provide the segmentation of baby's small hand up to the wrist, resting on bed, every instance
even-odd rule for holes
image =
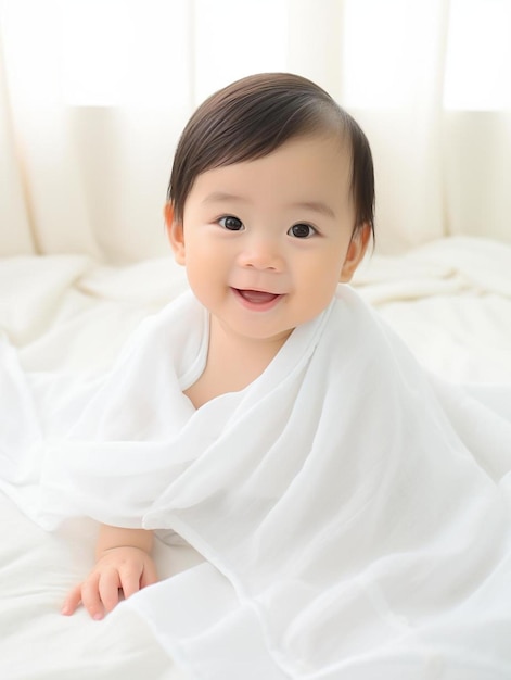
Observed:
[[[85,581],[67,595],[62,614],[74,614],[80,602],[90,616],[100,620],[119,602],[119,591],[129,597],[157,581],[154,562],[144,550],[118,546],[104,551]]]

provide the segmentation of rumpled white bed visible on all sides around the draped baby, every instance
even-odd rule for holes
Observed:
[[[511,247],[446,238],[369,257],[354,284],[431,369],[455,381],[511,383]],[[0,325],[27,372],[103,372],[131,329],[186,289],[169,257],[101,265],[81,255],[0,261]],[[23,427],[23,424],[18,424]],[[0,496],[0,677],[183,680],[146,624],[123,605],[95,622],[60,615],[89,569],[94,522],[46,533]],[[156,544],[162,577],[202,557]],[[171,603],[168,603],[171,607]]]

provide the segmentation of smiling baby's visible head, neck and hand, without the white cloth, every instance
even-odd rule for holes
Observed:
[[[360,127],[311,81],[260,74],[216,92],[179,141],[165,205],[176,261],[208,312],[195,410],[239,392],[331,304],[373,236],[374,178]],[[68,594],[101,619],[154,583],[152,531],[100,528],[95,566]]]

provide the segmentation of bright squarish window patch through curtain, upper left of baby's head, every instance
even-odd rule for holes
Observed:
[[[63,0],[59,21],[67,103],[154,108],[187,97],[187,0]]]

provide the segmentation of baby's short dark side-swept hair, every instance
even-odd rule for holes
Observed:
[[[182,221],[195,179],[208,169],[264,158],[284,142],[314,134],[338,135],[352,153],[354,232],[374,236],[374,174],[366,135],[356,121],[310,80],[286,73],[242,78],[199,106],[179,140],[167,200]]]

